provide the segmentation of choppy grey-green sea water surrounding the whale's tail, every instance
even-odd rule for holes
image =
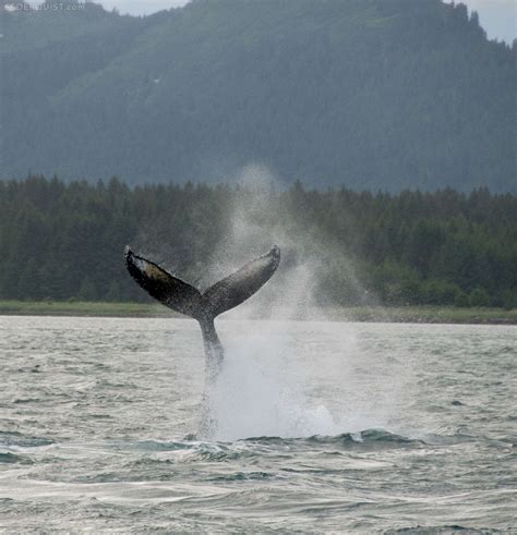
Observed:
[[[0,317],[2,533],[517,533],[515,327]]]

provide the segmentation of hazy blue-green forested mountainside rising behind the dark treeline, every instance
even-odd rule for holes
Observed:
[[[311,186],[516,189],[516,48],[488,41],[462,4],[0,16],[3,178],[231,181],[261,162]]]

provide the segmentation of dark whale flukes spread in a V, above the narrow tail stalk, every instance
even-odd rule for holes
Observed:
[[[133,279],[149,295],[180,314],[211,325],[216,316],[240,305],[258,291],[273,276],[280,263],[280,250],[249,262],[236,272],[219,280],[204,292],[163,267],[125,247],[125,265]]]

